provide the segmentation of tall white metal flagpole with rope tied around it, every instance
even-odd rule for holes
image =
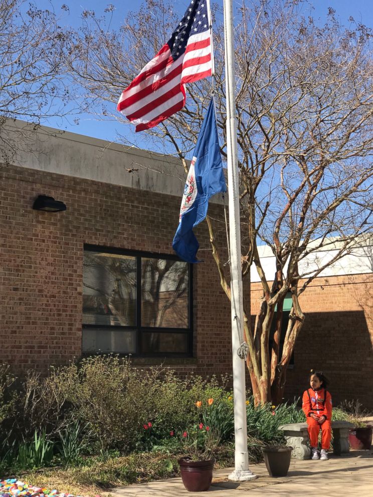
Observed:
[[[238,355],[243,337],[243,289],[241,275],[240,202],[237,160],[235,53],[232,0],[224,0],[225,75],[227,100],[227,160],[231,266],[231,314],[233,352],[233,395],[235,414],[235,470],[230,480],[245,481],[257,476],[249,469],[247,451],[245,359]]]

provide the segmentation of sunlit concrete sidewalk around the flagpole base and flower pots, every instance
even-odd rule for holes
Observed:
[[[291,461],[288,476],[271,478],[264,463],[252,464],[251,471],[258,478],[243,483],[228,481],[232,469],[214,471],[213,484],[203,495],[214,497],[240,497],[249,491],[254,497],[308,497],[320,494],[325,497],[372,497],[373,496],[373,451],[351,450],[345,456],[330,454],[328,461]],[[177,497],[192,495],[185,490],[181,478],[152,481],[117,487],[113,497]]]

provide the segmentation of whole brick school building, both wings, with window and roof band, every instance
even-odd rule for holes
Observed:
[[[101,351],[180,374],[230,373],[230,304],[206,223],[196,230],[203,264],[173,255],[184,181],[177,161],[51,128],[28,139],[27,152],[0,168],[0,361],[22,374]],[[38,195],[67,210],[33,209]],[[219,203],[209,209],[221,218]],[[225,246],[224,223],[218,228]],[[252,314],[262,295],[255,281]],[[373,407],[372,281],[371,262],[359,257],[306,291],[287,396],[322,367],[337,401]]]

